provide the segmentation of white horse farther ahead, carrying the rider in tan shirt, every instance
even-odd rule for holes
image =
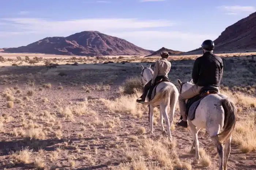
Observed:
[[[153,70],[150,67],[143,67],[141,65],[142,72],[140,73],[141,81],[143,85],[146,85],[148,81],[150,81],[153,78]],[[154,93],[152,93],[153,99],[149,102],[143,102],[142,104],[149,105],[149,120],[150,120],[150,132],[153,134],[153,110],[155,107],[159,109],[160,112],[160,121],[161,121],[161,127],[162,132],[165,132],[165,128],[163,127],[163,116],[165,117],[165,123],[167,126],[167,137],[169,139],[172,138],[170,126],[173,123],[173,116],[175,112],[176,103],[178,101],[178,89],[174,84],[171,82],[160,82],[156,87],[154,87],[153,92],[155,90],[155,96]],[[151,97],[151,98],[152,98]],[[148,101],[148,93],[146,96],[146,101]],[[167,114],[167,108],[170,106],[170,119]]]

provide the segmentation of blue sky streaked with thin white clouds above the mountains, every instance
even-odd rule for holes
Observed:
[[[0,48],[99,31],[145,49],[189,51],[255,12],[256,1],[4,0],[0,11]]]

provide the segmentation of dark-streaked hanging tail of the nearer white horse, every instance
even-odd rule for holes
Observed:
[[[220,142],[224,143],[226,142],[227,139],[230,138],[235,128],[237,108],[232,101],[226,98],[221,99],[221,104],[224,109],[225,118],[224,118],[223,131],[220,134],[217,134],[217,136],[219,136]]]

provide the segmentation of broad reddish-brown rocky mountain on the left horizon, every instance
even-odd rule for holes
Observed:
[[[5,49],[4,52],[101,56],[149,55],[154,51],[143,49],[127,40],[98,31],[83,31],[67,37],[46,37],[27,46]]]

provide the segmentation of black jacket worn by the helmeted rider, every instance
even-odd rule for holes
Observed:
[[[223,74],[223,62],[220,57],[207,51],[195,60],[192,78],[198,86],[219,86]]]

